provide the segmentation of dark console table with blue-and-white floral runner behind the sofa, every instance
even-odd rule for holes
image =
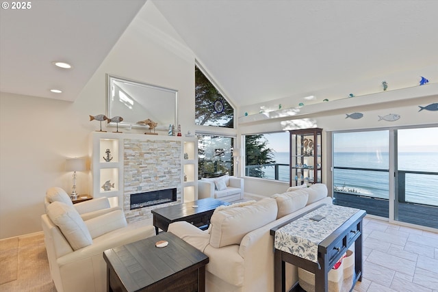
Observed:
[[[322,223],[309,219],[309,217],[313,217],[314,215],[318,215],[320,213],[322,213],[322,215],[326,215],[326,217],[320,221]],[[352,215],[345,215],[345,213]],[[274,242],[276,240],[276,232],[279,233],[278,239],[281,240],[284,238],[287,239],[287,232],[290,230],[291,236],[294,238],[293,241],[295,241],[293,244],[299,245],[299,242],[303,241],[307,243],[307,246],[313,245],[315,251],[313,258],[306,258],[307,254],[311,254],[309,250],[307,250],[305,256],[304,254],[299,254],[298,252],[298,250],[302,250],[302,248],[288,248],[287,246],[284,246],[287,244],[283,243],[280,243],[280,245],[283,245],[281,247],[276,245],[274,254],[274,292],[285,292],[285,263],[291,263],[296,267],[300,267],[315,274],[315,292],[327,292],[329,284],[327,274],[333,265],[339,261],[339,258],[344,255],[352,243],[355,243],[355,275],[353,277],[354,287],[358,280],[362,280],[362,220],[365,215],[366,212],[363,210],[323,204],[315,207],[315,209],[312,209],[307,213],[292,218],[292,220],[289,220],[280,226],[272,228],[270,230],[270,234],[274,236]],[[323,222],[324,220],[327,221]],[[330,225],[328,223],[331,220],[333,220],[333,222],[337,221],[341,223],[336,225],[339,227],[335,227],[335,230],[330,231],[329,235],[322,239],[322,241],[319,243],[313,244],[310,240],[307,241],[305,238],[306,235],[298,235],[300,232],[297,228],[300,228],[300,224],[304,226],[303,228],[307,228],[307,230],[310,228],[313,234],[318,234],[320,231],[324,233],[326,230],[330,230],[326,227],[327,225]],[[294,222],[294,224],[288,225],[291,222]],[[321,230],[319,231],[318,228],[321,228]],[[322,230],[323,228],[324,230]],[[297,241],[298,243],[296,243]],[[277,247],[281,249],[278,249]],[[300,290],[301,288],[299,287],[298,282],[292,288],[293,289],[291,291],[302,291]]]

